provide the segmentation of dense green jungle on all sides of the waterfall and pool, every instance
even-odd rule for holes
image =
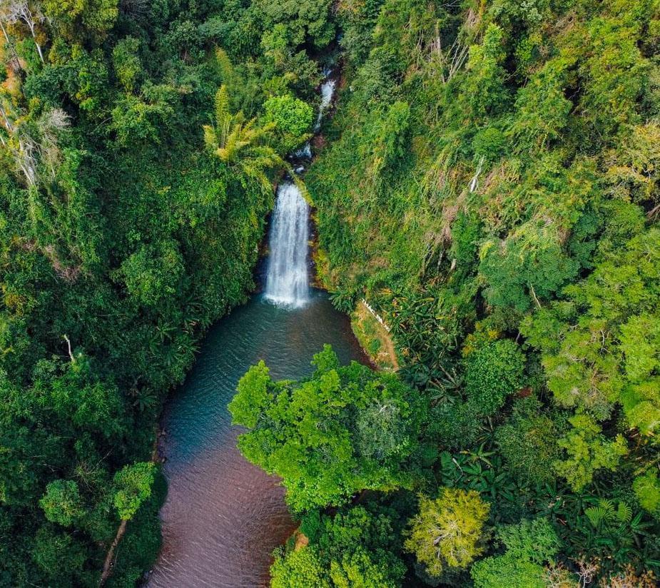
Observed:
[[[230,404],[305,544],[276,588],[660,575],[660,1],[0,0],[0,586],[134,586],[164,402],[273,184],[400,370]],[[373,332],[372,332],[373,333]],[[368,337],[367,333],[367,337]],[[372,342],[372,351],[379,342]]]

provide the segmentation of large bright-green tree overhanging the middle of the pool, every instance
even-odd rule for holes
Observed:
[[[240,451],[283,478],[295,511],[339,505],[363,489],[407,484],[402,466],[417,445],[412,391],[397,377],[352,363],[339,367],[329,345],[302,382],[273,382],[250,367],[229,404],[250,430]]]

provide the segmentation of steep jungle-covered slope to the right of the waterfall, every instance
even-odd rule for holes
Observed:
[[[583,577],[655,569],[658,6],[337,19],[345,81],[307,177],[335,304],[390,325],[442,484],[491,492],[502,521],[549,514]]]

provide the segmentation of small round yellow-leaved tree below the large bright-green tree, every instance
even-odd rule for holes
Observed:
[[[439,497],[420,498],[420,512],[410,520],[405,549],[440,576],[445,569],[467,567],[484,551],[484,524],[490,505],[474,490],[443,488]]]

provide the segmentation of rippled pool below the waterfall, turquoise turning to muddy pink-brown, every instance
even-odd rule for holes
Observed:
[[[263,359],[276,379],[303,377],[323,343],[343,363],[364,361],[348,318],[319,290],[294,310],[255,296],[210,330],[163,420],[169,487],[150,587],[268,585],[270,553],[295,525],[278,480],[238,453],[227,403],[250,365]]]

